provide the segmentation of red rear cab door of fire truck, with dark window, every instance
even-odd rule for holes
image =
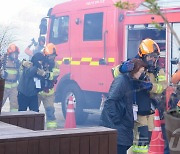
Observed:
[[[82,10],[80,84],[83,90],[102,92],[106,87],[106,63],[103,59],[106,13],[106,7]]]

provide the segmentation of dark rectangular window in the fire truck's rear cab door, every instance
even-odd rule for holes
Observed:
[[[102,40],[103,12],[85,14],[83,41]]]

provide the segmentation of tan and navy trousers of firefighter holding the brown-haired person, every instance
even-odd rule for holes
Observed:
[[[135,136],[133,144],[134,153],[148,153],[152,130],[154,129],[154,114],[148,116],[138,115],[135,124]]]

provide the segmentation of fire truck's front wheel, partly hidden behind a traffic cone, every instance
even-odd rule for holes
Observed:
[[[83,124],[88,118],[88,114],[83,112],[83,109],[86,106],[86,102],[81,89],[75,84],[68,85],[63,92],[63,98],[62,98],[63,115],[64,117],[66,117],[68,99],[70,96],[73,97],[76,123],[78,125]]]

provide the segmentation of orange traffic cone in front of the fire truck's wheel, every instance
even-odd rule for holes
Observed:
[[[76,128],[73,97],[69,97],[64,128]]]

